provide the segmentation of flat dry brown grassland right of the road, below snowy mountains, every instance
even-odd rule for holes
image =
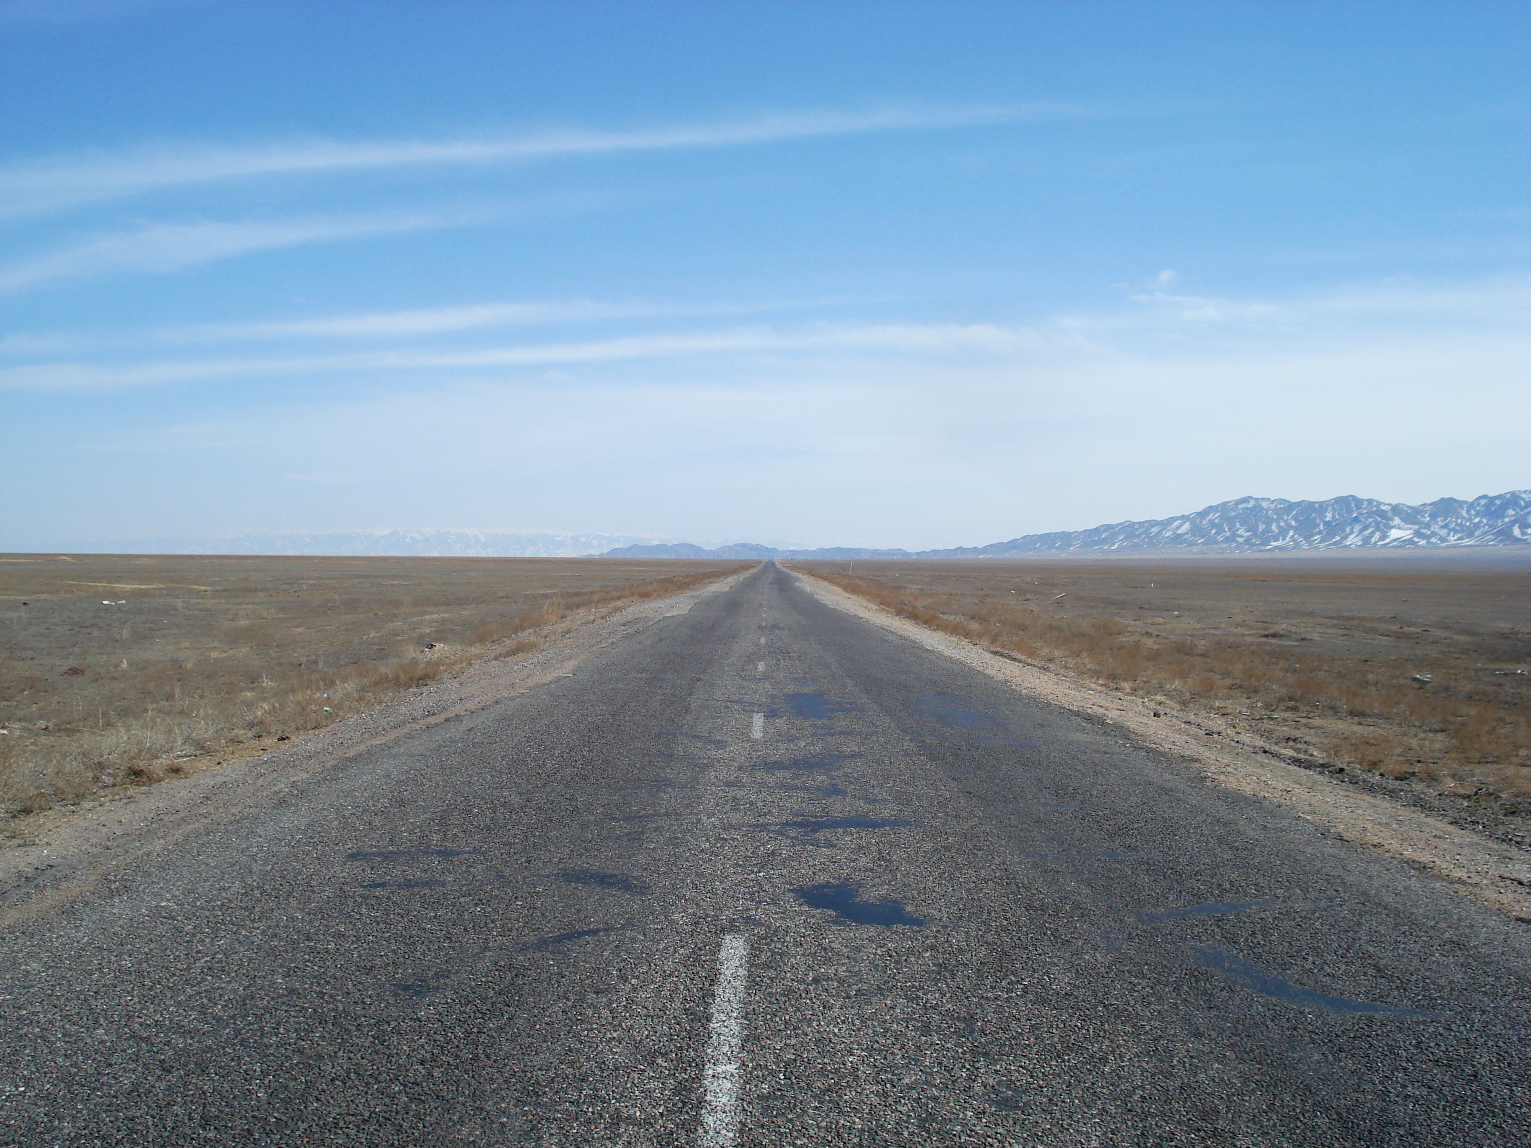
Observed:
[[[1298,756],[1523,801],[1531,559],[1471,557],[793,565],[925,626],[1216,712]]]

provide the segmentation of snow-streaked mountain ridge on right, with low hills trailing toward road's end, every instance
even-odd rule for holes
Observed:
[[[952,550],[773,550],[750,543],[704,550],[690,543],[635,545],[608,557],[694,559],[984,559],[1030,554],[1105,554],[1121,551],[1295,551],[1363,546],[1531,545],[1531,490],[1482,494],[1471,501],[1436,499],[1422,505],[1378,502],[1346,494],[1324,502],[1246,496],[1150,522],[1110,522],[1092,530],[1023,534],[987,546]],[[681,553],[684,551],[684,553]]]

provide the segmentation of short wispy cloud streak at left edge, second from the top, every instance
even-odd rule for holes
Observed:
[[[168,272],[230,256],[300,243],[461,227],[481,216],[375,214],[228,223],[149,223],[132,231],[95,236],[75,246],[0,266],[0,291],[26,291],[41,283],[86,279],[119,271]]]

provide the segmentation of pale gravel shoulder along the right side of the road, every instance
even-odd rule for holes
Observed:
[[[1150,704],[1035,661],[995,654],[900,618],[819,579],[798,572],[795,577],[828,606],[957,658],[1023,693],[1116,726],[1191,762],[1209,782],[1278,802],[1335,837],[1396,857],[1448,880],[1482,905],[1531,921],[1531,851],[1525,848],[1410,808],[1381,785],[1369,791],[1360,778],[1340,779],[1292,765],[1280,748],[1216,718]],[[1156,710],[1162,716],[1154,716]]]

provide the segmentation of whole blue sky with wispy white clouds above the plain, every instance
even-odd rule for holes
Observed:
[[[0,548],[1531,485],[1522,3],[0,0]]]

